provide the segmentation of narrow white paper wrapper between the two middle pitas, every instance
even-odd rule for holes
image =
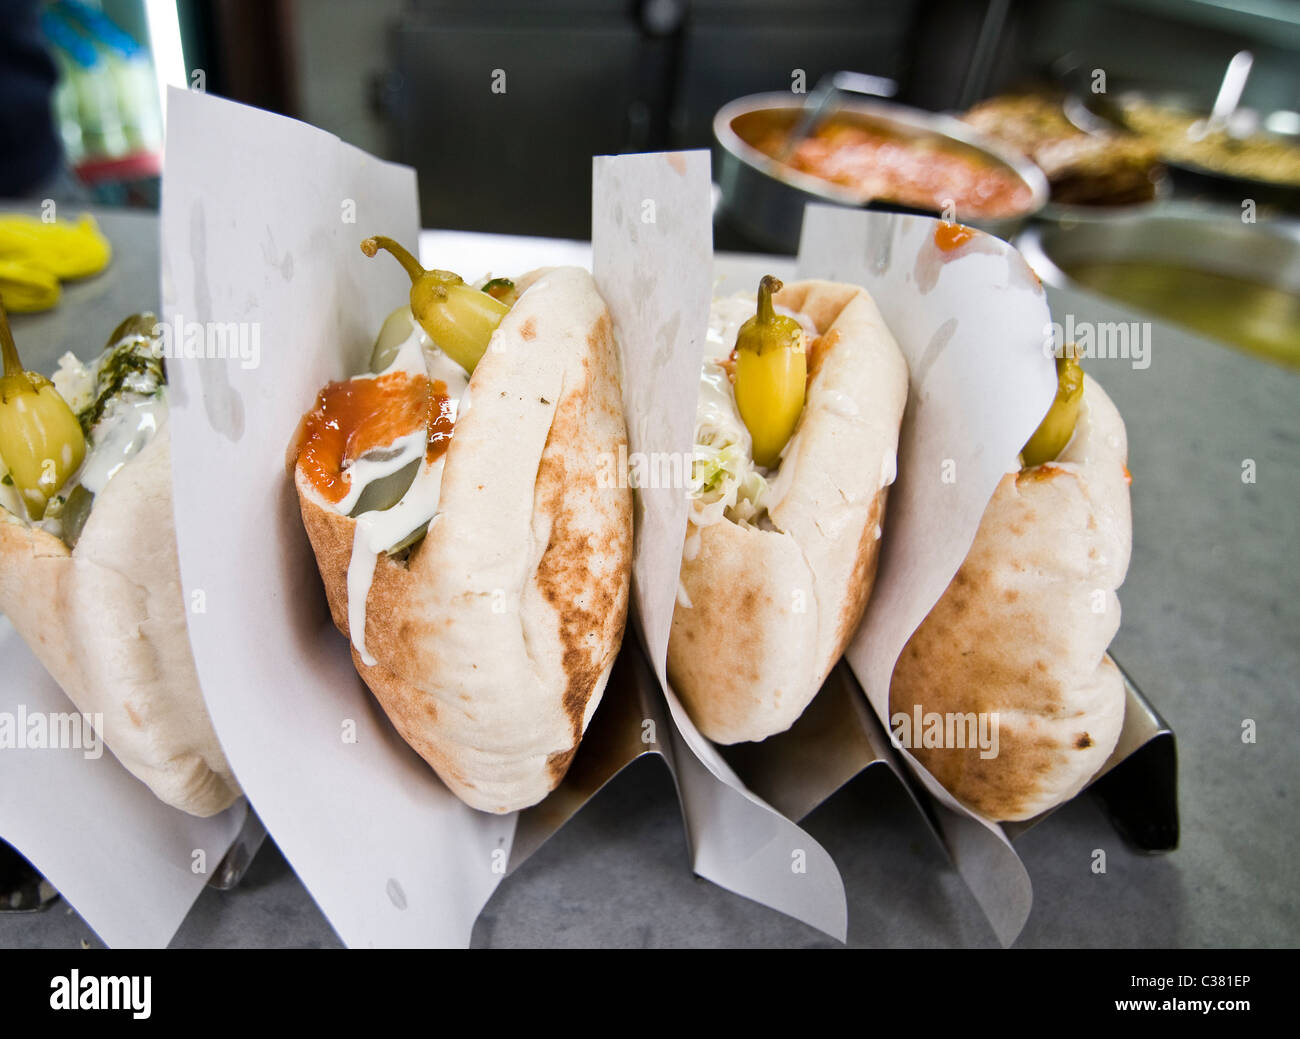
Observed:
[[[630,456],[689,459],[712,296],[707,152],[602,156],[593,166],[597,285],[623,356]],[[844,940],[844,882],[827,852],[749,792],[692,724],[667,680],[686,532],[682,486],[637,492],[636,625],[662,683],[696,873]]]

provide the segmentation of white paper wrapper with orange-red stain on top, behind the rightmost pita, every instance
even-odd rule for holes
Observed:
[[[928,217],[810,205],[800,246],[801,277],[871,293],[911,371],[880,568],[846,653],[885,728],[898,655],[961,567],[993,489],[1056,393],[1043,350],[1046,299],[1028,265],[983,234],[940,250],[937,226]],[[1009,944],[1032,900],[1010,841],[900,753],[941,806],[953,860]]]

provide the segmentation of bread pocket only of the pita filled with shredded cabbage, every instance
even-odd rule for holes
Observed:
[[[784,732],[816,696],[871,594],[907,364],[864,289],[788,285],[812,320],[803,414],[771,488],[775,531],[699,528],[673,610],[668,676],[710,740]],[[690,534],[696,537],[696,534]]]

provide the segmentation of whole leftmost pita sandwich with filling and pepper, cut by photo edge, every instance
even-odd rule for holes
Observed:
[[[213,815],[240,791],[186,632],[156,319],[88,365],[64,355],[53,381],[0,335],[0,611],[133,775]]]

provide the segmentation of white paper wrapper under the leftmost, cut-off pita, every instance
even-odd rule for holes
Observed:
[[[3,616],[0,658],[5,722],[77,711]],[[239,832],[248,802],[209,819],[186,815],[100,750],[0,748],[0,835],[105,944],[162,947]]]

